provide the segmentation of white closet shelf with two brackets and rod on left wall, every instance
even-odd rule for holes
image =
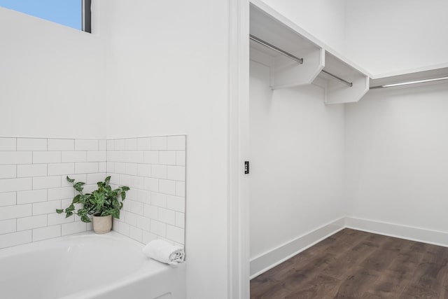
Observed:
[[[271,69],[271,88],[314,83],[325,88],[325,104],[358,102],[369,76],[352,62],[262,1],[251,0],[251,60]]]

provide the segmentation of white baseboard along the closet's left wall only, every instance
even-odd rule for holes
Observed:
[[[339,230],[345,228],[344,218],[340,218],[331,223],[325,224],[316,230],[305,235],[297,237],[286,244],[276,247],[267,253],[251,259],[251,279],[266,272],[267,270],[283,263],[288,258],[295,256],[297,253],[308,249],[314,244],[321,242],[323,239],[334,235]]]

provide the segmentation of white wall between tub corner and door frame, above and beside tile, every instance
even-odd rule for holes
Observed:
[[[187,135],[188,298],[228,292],[228,2],[103,2],[108,137]]]

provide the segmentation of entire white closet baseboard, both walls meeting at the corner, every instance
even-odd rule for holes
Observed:
[[[323,239],[334,235],[336,232],[339,232],[339,230],[344,228],[352,228],[353,230],[362,230],[379,235],[398,237],[400,239],[409,239],[416,242],[448,247],[448,232],[426,230],[407,225],[385,223],[354,217],[343,217],[331,223],[325,224],[305,235],[297,237],[297,239],[293,239],[293,241],[278,246],[267,253],[263,253],[260,256],[252,258],[250,272],[251,279],[275,267],[276,265],[283,263],[285,260],[295,256],[297,253],[308,249],[314,244],[321,242]]]

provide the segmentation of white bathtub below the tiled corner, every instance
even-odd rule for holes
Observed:
[[[146,258],[143,244],[116,232],[0,250],[0,298],[185,298],[185,264]]]

